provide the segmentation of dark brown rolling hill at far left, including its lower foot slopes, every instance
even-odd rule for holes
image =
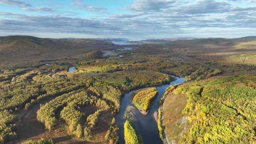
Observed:
[[[0,67],[24,67],[40,61],[61,61],[93,50],[117,46],[101,40],[47,39],[33,36],[0,37]]]

